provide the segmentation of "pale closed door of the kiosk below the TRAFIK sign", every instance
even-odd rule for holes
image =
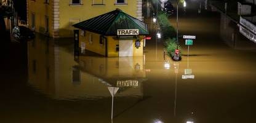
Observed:
[[[132,40],[119,40],[119,57],[132,57]]]

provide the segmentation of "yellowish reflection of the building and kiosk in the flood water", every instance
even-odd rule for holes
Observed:
[[[28,82],[39,92],[72,100],[111,97],[108,87],[119,87],[115,97],[143,96],[143,57],[81,56],[74,61],[73,47],[63,44],[42,37],[28,42]]]

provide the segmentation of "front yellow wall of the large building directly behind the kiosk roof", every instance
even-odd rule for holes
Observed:
[[[127,5],[114,5],[114,2],[115,0],[105,0],[105,5],[92,6],[92,0],[82,0],[82,5],[71,6],[70,0],[62,0],[60,2],[60,37],[72,37],[74,23],[97,17],[116,8],[137,17],[137,1],[127,0]]]

